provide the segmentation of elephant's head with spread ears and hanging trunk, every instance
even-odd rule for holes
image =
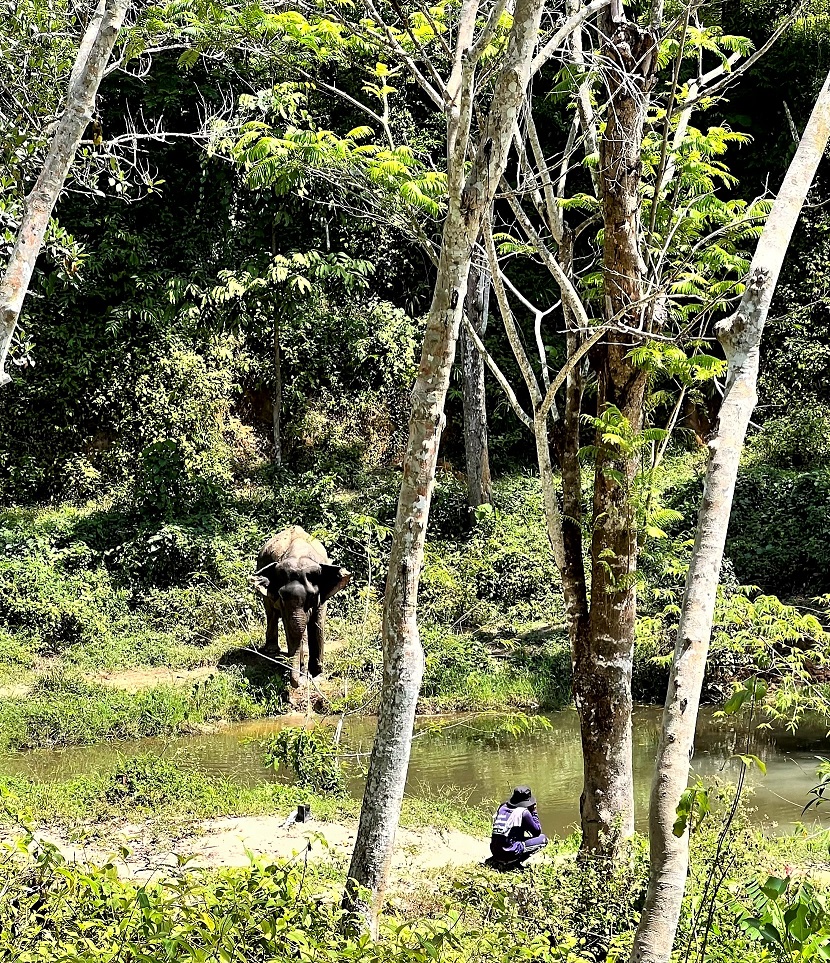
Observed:
[[[310,614],[345,588],[351,573],[310,558],[282,559],[253,576],[257,591],[279,601],[291,666],[291,685],[300,684],[300,659]]]

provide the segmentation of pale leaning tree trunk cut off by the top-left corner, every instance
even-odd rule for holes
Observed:
[[[43,169],[23,206],[23,219],[0,281],[0,387],[11,381],[6,359],[43,238],[58,196],[92,120],[98,88],[124,20],[128,0],[100,0],[81,40],[66,107],[52,137]]]

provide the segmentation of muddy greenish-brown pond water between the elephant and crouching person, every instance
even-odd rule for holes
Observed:
[[[659,735],[661,710],[642,707],[634,715],[634,776],[637,828],[645,831],[648,794]],[[578,821],[582,784],[582,759],[576,713],[547,714],[549,729],[518,738],[492,733],[493,716],[421,717],[416,726],[407,792],[413,796],[446,796],[468,800],[470,805],[495,804],[511,787],[526,783],[539,800],[539,815],[546,832],[565,834]],[[34,750],[0,756],[0,774],[26,775],[55,781],[110,769],[124,757],[157,753],[206,773],[251,786],[278,777],[263,765],[256,740],[296,719],[269,719],[230,726],[206,735],[176,739],[142,739],[71,749]],[[375,721],[347,719],[343,741],[350,751],[371,749]],[[440,731],[435,731],[440,727]],[[726,782],[737,778],[736,753],[752,753],[764,761],[766,775],[753,770],[748,803],[757,825],[786,832],[797,823],[830,827],[830,802],[825,810],[801,815],[816,784],[820,757],[830,758],[830,738],[819,726],[786,731],[734,728],[703,710],[698,723],[692,778]],[[360,795],[359,779],[351,791]]]

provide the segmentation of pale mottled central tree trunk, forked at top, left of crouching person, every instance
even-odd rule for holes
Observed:
[[[469,5],[472,25],[476,6]],[[470,39],[458,51],[461,82],[448,122],[449,210],[421,364],[412,391],[409,443],[404,456],[383,609],[383,684],[378,728],[343,898],[345,908],[362,917],[373,933],[377,932],[400,819],[415,708],[423,678],[424,653],[417,623],[418,586],[444,425],[444,402],[464,310],[472,250],[507,163],[513,128],[526,96],[544,6],[545,0],[516,2],[507,50],[481,132],[481,146],[466,178],[463,172],[469,146],[475,70],[469,51],[472,27]]]

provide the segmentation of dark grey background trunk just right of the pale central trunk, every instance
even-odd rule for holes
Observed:
[[[490,301],[490,278],[486,268],[473,267],[464,310],[475,333],[484,337]],[[461,368],[464,395],[464,452],[467,461],[467,498],[470,508],[491,501],[490,451],[487,443],[487,399],[484,389],[484,358],[461,326]]]

